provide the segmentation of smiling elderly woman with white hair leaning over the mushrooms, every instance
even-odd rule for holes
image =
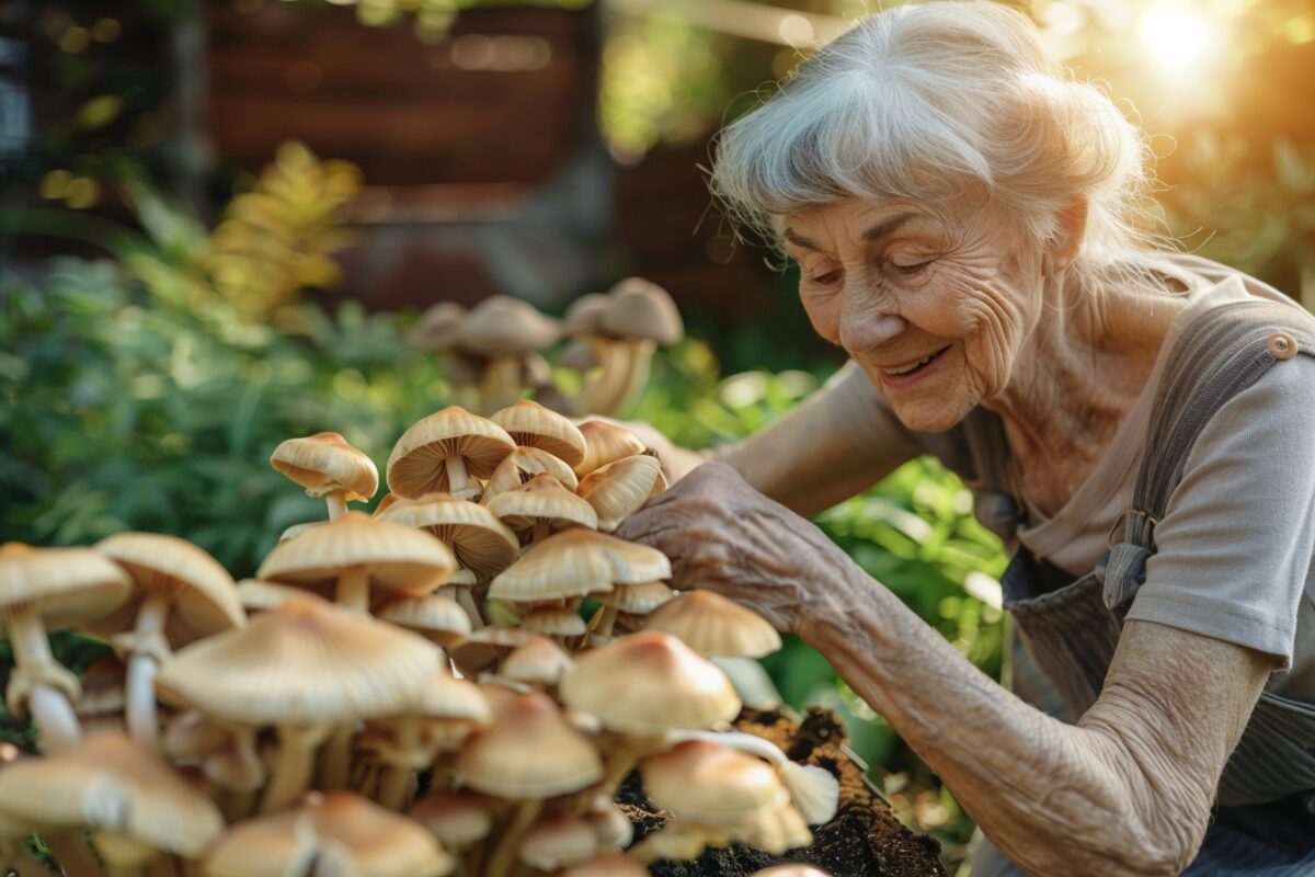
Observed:
[[[1143,143],[1001,5],[813,55],[713,189],[852,362],[622,535],[817,647],[1003,873],[1315,874],[1315,320],[1155,249]],[[1072,722],[800,517],[923,452],[1016,547],[1006,607]]]

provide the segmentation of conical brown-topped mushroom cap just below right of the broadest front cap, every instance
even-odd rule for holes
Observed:
[[[476,732],[456,756],[458,785],[512,801],[569,794],[602,778],[589,738],[546,694],[515,694],[485,685],[493,724]]]

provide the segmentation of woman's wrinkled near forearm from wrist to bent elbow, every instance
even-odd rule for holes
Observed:
[[[977,671],[890,592],[856,568],[801,626],[860,697],[942,777],[982,831],[1035,874],[1168,874],[1203,824],[1147,814],[1199,811],[1168,778],[1145,781],[1126,740],[1066,726]],[[1172,774],[1172,769],[1170,769]],[[1159,798],[1157,798],[1159,797]],[[1208,798],[1205,802],[1208,807]]]

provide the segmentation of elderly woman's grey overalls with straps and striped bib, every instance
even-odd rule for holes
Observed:
[[[1156,396],[1134,508],[1120,515],[1110,551],[1077,581],[1026,547],[1005,571],[1005,609],[1031,659],[1022,661],[1015,690],[1045,689],[1026,669],[1039,667],[1052,686],[1048,696],[1060,702],[1053,714],[1072,721],[1095,702],[1123,618],[1145,581],[1145,561],[1156,550],[1155,523],[1164,517],[1198,435],[1223,402],[1298,352],[1315,355],[1315,321],[1278,302],[1220,305],[1186,327]],[[978,409],[964,427],[981,485],[978,517],[1009,540],[1020,505],[1003,489],[1010,477],[999,419]],[[1034,702],[1044,706],[1045,697],[1036,692]],[[984,847],[972,877],[1022,873],[994,847]],[[1201,852],[1184,873],[1315,877],[1315,706],[1261,694],[1224,769]]]

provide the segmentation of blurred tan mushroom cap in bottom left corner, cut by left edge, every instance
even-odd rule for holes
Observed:
[[[209,798],[121,734],[97,734],[5,767],[0,813],[54,832],[110,831],[188,859],[224,834],[224,817]]]

